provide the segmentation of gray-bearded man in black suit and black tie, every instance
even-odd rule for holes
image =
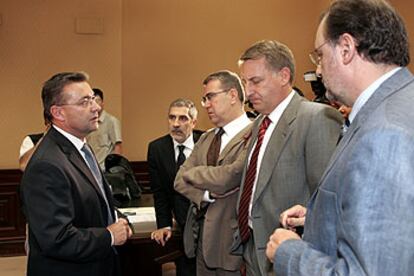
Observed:
[[[168,111],[169,134],[152,141],[148,146],[148,166],[151,190],[154,195],[157,230],[151,238],[162,246],[171,238],[173,217],[181,230],[189,201],[174,190],[175,175],[190,155],[201,132],[194,131],[197,109],[193,102],[177,99]],[[176,262],[177,275],[195,275],[195,259],[180,257]]]

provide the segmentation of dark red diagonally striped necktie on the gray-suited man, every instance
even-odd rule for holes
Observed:
[[[262,124],[259,128],[259,133],[257,135],[257,143],[253,150],[252,156],[250,158],[250,163],[247,168],[243,191],[240,197],[239,203],[239,230],[240,237],[243,243],[245,243],[250,237],[249,231],[249,205],[252,198],[253,184],[256,178],[257,171],[257,157],[259,156],[260,147],[263,143],[263,137],[266,133],[267,128],[269,127],[271,120],[269,117],[263,119]]]

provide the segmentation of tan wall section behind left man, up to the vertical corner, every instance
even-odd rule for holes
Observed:
[[[42,132],[42,83],[82,70],[121,113],[121,0],[0,1],[0,168],[17,168],[28,133]],[[104,18],[103,35],[75,34],[75,18]]]

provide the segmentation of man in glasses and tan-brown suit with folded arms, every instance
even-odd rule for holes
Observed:
[[[197,205],[197,216],[205,213],[198,235],[197,275],[240,275],[242,258],[231,255],[230,248],[237,227],[241,178],[237,164],[245,156],[251,122],[244,112],[244,91],[235,73],[212,73],[203,85],[201,102],[216,128],[200,137],[178,171],[174,188]],[[192,239],[192,230],[190,235],[187,231],[186,227],[184,239]]]

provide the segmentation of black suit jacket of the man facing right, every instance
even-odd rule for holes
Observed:
[[[113,210],[106,182],[104,188]],[[75,146],[53,127],[30,159],[21,196],[29,224],[27,275],[119,275],[99,186]]]

